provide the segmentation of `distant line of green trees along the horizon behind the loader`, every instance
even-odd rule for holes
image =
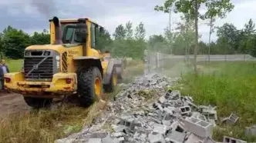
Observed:
[[[194,22],[185,22],[184,18],[177,23],[175,32],[164,29],[163,35],[151,35],[145,38],[146,29],[143,23],[133,29],[132,22],[118,25],[113,38],[109,32],[99,38],[98,49],[109,51],[117,57],[143,58],[143,51],[163,52],[173,55],[194,53]],[[256,56],[256,32],[254,22],[250,19],[244,28],[237,29],[231,23],[225,23],[215,28],[217,41],[211,42],[211,54],[250,54]],[[187,39],[187,40],[185,40]],[[8,26],[0,33],[0,54],[7,58],[23,58],[23,51],[29,45],[43,45],[50,43],[49,32],[34,32],[32,35]],[[208,54],[209,44],[199,43],[198,54]]]

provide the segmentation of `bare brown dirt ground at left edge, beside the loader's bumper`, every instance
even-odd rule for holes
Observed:
[[[0,92],[0,117],[27,110],[22,95]]]

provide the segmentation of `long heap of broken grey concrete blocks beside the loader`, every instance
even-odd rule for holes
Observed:
[[[144,75],[127,85],[108,104],[93,125],[59,142],[165,143],[214,142],[211,138],[217,113],[211,106],[197,106],[180,91],[165,91],[177,78]],[[153,95],[151,91],[153,92]],[[72,140],[70,140],[72,138]],[[69,140],[69,141],[68,141]]]

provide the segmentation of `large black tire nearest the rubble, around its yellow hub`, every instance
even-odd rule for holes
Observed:
[[[99,99],[95,94],[94,83],[96,78],[99,78],[102,83],[102,75],[99,68],[83,68],[79,71],[77,94],[79,96],[80,104],[84,107],[92,105],[94,101]],[[100,85],[102,89],[102,84]],[[101,90],[102,91],[102,90]]]

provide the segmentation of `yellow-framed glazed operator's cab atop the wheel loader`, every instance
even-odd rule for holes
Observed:
[[[51,44],[86,44],[87,47],[97,48],[99,36],[104,28],[89,18],[59,19],[52,18],[50,22]]]

